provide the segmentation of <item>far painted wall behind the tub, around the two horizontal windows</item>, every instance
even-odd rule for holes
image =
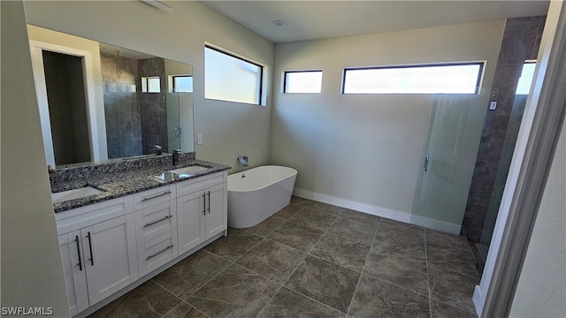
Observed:
[[[298,193],[409,221],[434,98],[340,95],[342,69],[486,60],[482,87],[488,93],[504,24],[494,20],[277,44],[271,162],[299,171]],[[305,69],[323,70],[322,94],[282,94],[281,73]],[[483,120],[472,148],[478,147],[481,125]]]

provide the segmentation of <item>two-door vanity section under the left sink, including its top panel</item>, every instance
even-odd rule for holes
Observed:
[[[138,278],[132,198],[57,213],[71,314]]]

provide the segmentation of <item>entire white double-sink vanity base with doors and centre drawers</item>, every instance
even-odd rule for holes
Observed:
[[[226,231],[227,180],[225,170],[58,212],[71,314],[117,297]]]

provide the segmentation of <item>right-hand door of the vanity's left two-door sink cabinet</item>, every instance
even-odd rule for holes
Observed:
[[[134,214],[80,230],[90,306],[138,278]]]

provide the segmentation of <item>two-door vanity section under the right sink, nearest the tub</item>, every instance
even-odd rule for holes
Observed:
[[[226,185],[226,171],[177,184],[179,254],[226,231]]]

